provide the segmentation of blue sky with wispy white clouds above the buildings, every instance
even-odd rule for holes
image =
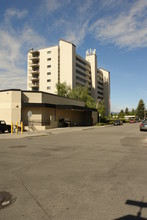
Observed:
[[[26,89],[27,52],[96,49],[111,74],[111,111],[147,107],[147,0],[0,0],[0,90]]]

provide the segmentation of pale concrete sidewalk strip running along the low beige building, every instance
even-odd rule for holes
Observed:
[[[16,133],[11,134],[5,132],[4,134],[0,134],[0,139],[17,139],[17,138],[34,137],[34,136],[48,136],[52,134],[55,135],[55,134],[73,132],[73,131],[96,129],[98,127],[99,126],[52,128],[47,130],[24,131],[23,134],[21,134],[20,132],[18,134]]]

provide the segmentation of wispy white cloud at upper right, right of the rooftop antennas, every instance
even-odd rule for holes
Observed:
[[[98,18],[90,27],[97,40],[130,49],[147,46],[147,1],[139,0],[117,15]]]

